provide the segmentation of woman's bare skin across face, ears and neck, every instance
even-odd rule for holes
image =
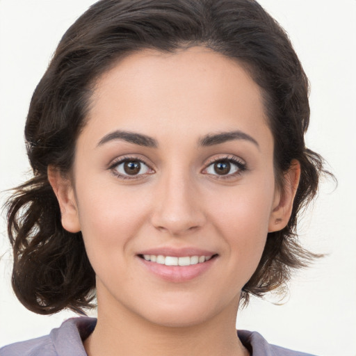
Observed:
[[[157,147],[100,144],[116,130],[149,136]],[[230,131],[245,136],[200,145]],[[124,157],[145,163],[139,174],[118,177],[123,164],[114,164]],[[219,175],[213,162],[226,159],[245,170],[230,163],[236,172]],[[261,92],[235,61],[204,47],[145,50],[104,74],[76,143],[72,179],[49,168],[63,227],[81,230],[97,275],[88,355],[249,355],[236,337],[241,289],[268,232],[288,222],[299,174],[294,162],[283,193],[275,188]],[[170,281],[138,257],[162,247],[216,257],[192,280]]]

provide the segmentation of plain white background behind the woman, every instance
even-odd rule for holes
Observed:
[[[0,0],[0,191],[29,178],[23,129],[31,94],[64,31],[92,0]],[[356,1],[261,0],[289,33],[312,84],[307,145],[339,180],[323,181],[300,224],[300,240],[328,254],[302,270],[284,305],[252,300],[238,328],[323,356],[356,355]],[[1,193],[1,203],[5,193]],[[11,253],[0,221],[0,346],[47,334],[71,316],[38,316],[10,289]]]

